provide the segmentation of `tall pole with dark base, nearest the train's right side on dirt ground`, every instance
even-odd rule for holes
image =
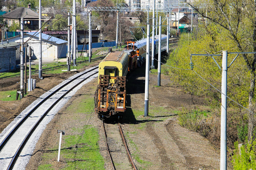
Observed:
[[[150,24],[147,24],[147,47],[146,47],[146,73],[145,73],[145,101],[144,116],[148,116],[148,86],[149,86],[149,67],[150,67]]]

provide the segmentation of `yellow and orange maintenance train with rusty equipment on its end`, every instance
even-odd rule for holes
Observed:
[[[158,54],[155,36],[155,54]],[[162,35],[162,49],[166,50],[167,36]],[[99,118],[121,118],[126,109],[126,75],[141,66],[146,58],[146,40],[131,42],[123,51],[110,52],[98,66],[98,86],[94,95],[95,113]]]

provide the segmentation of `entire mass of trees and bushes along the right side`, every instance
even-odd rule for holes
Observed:
[[[205,6],[204,4],[208,4]],[[185,90],[204,96],[209,104],[208,116],[197,121],[196,131],[216,145],[220,142],[222,56],[191,54],[222,54],[256,51],[256,16],[254,1],[197,1],[191,3],[200,15],[193,33],[181,35],[178,48],[170,54],[169,73]],[[228,54],[228,66],[237,54]],[[217,63],[216,63],[216,62]],[[193,63],[193,69],[189,63]],[[228,68],[228,147],[234,169],[254,169],[255,160],[255,54],[239,54]],[[232,99],[232,100],[231,100]],[[241,105],[244,107],[241,107]],[[246,109],[245,109],[246,108]],[[188,115],[191,111],[188,111]],[[196,115],[198,113],[196,112]],[[205,114],[205,113],[204,113]],[[195,115],[195,114],[194,114]],[[187,117],[191,118],[191,117]],[[197,117],[198,118],[198,117]],[[195,116],[191,119],[195,120]],[[181,124],[187,120],[181,117]],[[199,123],[198,123],[199,122]],[[236,143],[236,144],[235,144]],[[237,143],[243,143],[238,149]]]

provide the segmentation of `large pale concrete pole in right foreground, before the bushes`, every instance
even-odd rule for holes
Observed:
[[[226,170],[226,83],[228,71],[228,51],[222,51],[222,80],[221,80],[221,147],[220,169]]]

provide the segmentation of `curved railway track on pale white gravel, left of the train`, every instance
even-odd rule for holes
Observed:
[[[0,169],[25,169],[48,122],[83,84],[96,78],[97,74],[98,66],[72,76],[17,116],[0,134]]]

